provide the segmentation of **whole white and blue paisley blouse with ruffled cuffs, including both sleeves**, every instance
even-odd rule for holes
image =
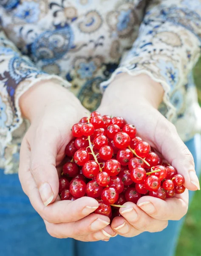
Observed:
[[[0,167],[17,172],[29,125],[19,98],[45,79],[92,111],[116,74],[146,73],[164,88],[159,111],[189,140],[201,130],[200,51],[200,0],[0,0]]]

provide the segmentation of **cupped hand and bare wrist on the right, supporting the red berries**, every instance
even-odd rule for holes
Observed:
[[[200,188],[193,156],[181,141],[175,126],[157,110],[163,89],[146,75],[136,77],[120,74],[106,89],[98,111],[104,115],[122,116],[136,125],[140,137],[156,148],[185,178],[190,190]],[[144,196],[137,205],[127,202],[119,209],[122,217],[113,219],[111,227],[119,235],[132,237],[144,231],[158,232],[168,220],[179,220],[188,209],[188,190],[175,198]]]

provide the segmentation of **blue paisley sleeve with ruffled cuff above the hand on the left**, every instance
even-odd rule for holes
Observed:
[[[38,81],[49,79],[54,79],[65,87],[70,86],[59,76],[41,72],[6,38],[0,27],[0,155],[2,157],[6,154],[5,149],[11,147],[13,133],[17,134],[21,126],[25,126],[18,104],[20,96]]]

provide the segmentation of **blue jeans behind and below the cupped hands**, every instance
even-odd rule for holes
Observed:
[[[201,169],[201,136],[186,143],[195,169]],[[190,193],[192,198],[193,193]],[[17,175],[0,170],[0,256],[173,256],[182,221],[170,221],[159,233],[142,233],[133,238],[116,236],[108,242],[80,242],[52,238],[40,216],[23,193]]]

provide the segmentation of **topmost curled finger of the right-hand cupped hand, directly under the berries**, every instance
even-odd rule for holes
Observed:
[[[151,196],[144,196],[137,202],[144,212],[158,220],[180,220],[188,210],[188,191],[174,198],[161,200]]]

